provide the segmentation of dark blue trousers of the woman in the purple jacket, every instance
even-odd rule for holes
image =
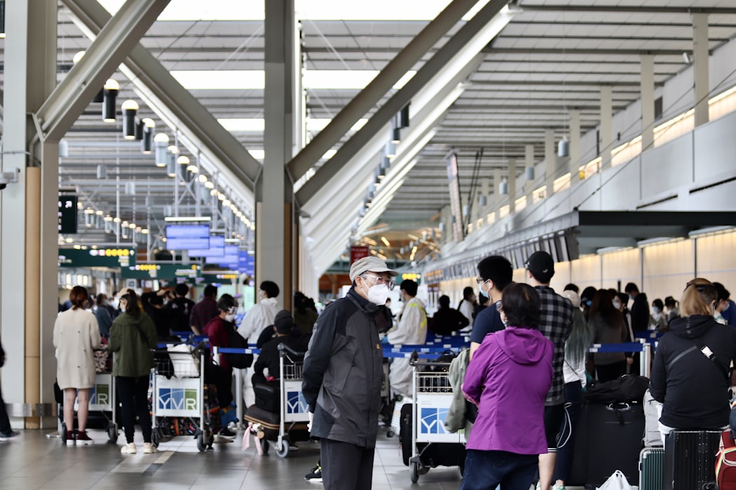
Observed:
[[[469,449],[460,490],[529,490],[538,464],[536,454]]]

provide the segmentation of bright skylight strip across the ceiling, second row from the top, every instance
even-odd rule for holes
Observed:
[[[394,84],[400,89],[416,71],[408,71]],[[378,70],[308,70],[302,84],[309,90],[361,90],[370,83]],[[187,90],[263,90],[266,75],[263,70],[174,70],[177,81]]]

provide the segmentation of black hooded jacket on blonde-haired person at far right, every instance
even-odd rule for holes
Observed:
[[[721,325],[710,315],[678,318],[659,339],[649,390],[654,400],[664,403],[662,424],[718,429],[729,423],[731,380],[691,339],[700,339],[723,367],[736,359],[736,328]]]

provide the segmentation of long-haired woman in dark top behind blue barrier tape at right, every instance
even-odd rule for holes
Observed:
[[[613,295],[608,289],[598,289],[593,295],[588,325],[596,344],[620,344],[626,341],[623,314],[613,306]],[[611,381],[626,374],[626,353],[597,352],[593,354],[593,364],[598,381]]]

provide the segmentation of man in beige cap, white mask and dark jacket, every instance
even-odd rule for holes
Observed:
[[[378,257],[350,266],[353,287],[319,315],[304,358],[302,393],[311,435],[321,439],[325,489],[372,486],[383,349],[378,332],[391,325],[384,306],[398,275]]]

